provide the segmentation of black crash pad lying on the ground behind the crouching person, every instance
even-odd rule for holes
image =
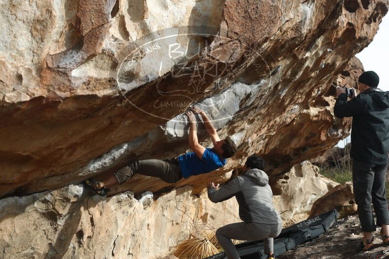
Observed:
[[[304,220],[300,223],[284,228],[280,235],[274,239],[274,256],[279,256],[286,251],[319,237],[332,227],[337,221],[339,213],[330,210],[319,216]],[[266,259],[263,241],[244,242],[235,245],[240,259]],[[206,259],[223,259],[224,252],[207,257]]]

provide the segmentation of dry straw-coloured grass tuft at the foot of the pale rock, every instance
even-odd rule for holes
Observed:
[[[177,245],[174,256],[179,259],[203,259],[218,253],[219,250],[207,238],[191,238]]]

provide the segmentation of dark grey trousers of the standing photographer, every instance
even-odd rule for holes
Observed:
[[[377,165],[353,160],[353,186],[358,217],[363,232],[376,230],[372,203],[377,225],[389,225],[389,210],[386,200],[385,177],[387,165]]]

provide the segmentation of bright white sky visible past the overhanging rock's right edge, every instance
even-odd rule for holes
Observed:
[[[365,71],[373,70],[380,77],[378,88],[389,91],[389,14],[384,16],[377,34],[368,47],[356,54]],[[350,142],[350,136],[339,141],[339,147]]]

